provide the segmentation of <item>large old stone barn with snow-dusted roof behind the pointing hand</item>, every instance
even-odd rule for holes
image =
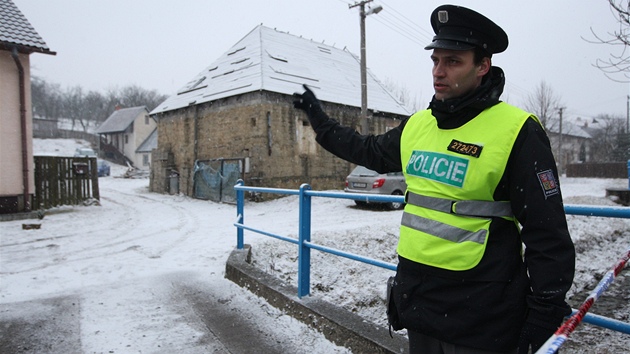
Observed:
[[[410,112],[369,71],[367,77],[369,130],[378,134]],[[238,178],[254,186],[342,189],[353,166],[322,149],[293,108],[303,84],[331,117],[359,126],[358,56],[254,28],[151,112],[158,129],[151,190],[231,201]]]

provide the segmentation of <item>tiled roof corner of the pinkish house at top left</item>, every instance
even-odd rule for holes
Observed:
[[[0,0],[0,49],[55,55],[11,0]]]

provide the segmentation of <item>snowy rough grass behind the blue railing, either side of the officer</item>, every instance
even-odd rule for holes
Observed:
[[[627,188],[627,179],[562,178],[565,204],[604,205],[619,208],[605,197],[606,188]],[[272,225],[264,217],[271,210],[283,215],[294,213],[286,198],[264,203],[264,210],[245,208],[246,223],[260,225],[266,231],[283,234],[288,218],[277,218]],[[258,219],[260,214],[260,220]],[[352,201],[316,198],[313,202],[313,231],[316,244],[396,263],[397,231],[402,211],[358,208]],[[254,214],[254,215],[252,215]],[[275,213],[274,213],[275,214]],[[630,248],[630,219],[567,215],[571,237],[577,250],[576,276],[568,293],[569,302],[577,309],[595,288],[603,275]],[[283,235],[297,237],[297,228]],[[246,242],[260,236],[246,238]],[[257,266],[275,276],[296,283],[295,246],[287,242],[266,240],[253,248]],[[386,326],[384,284],[392,271],[313,252],[311,254],[311,294],[341,304],[364,318]],[[630,275],[621,272],[610,289],[593,305],[590,313],[630,323]],[[404,333],[404,331],[402,332]],[[569,353],[627,353],[630,336],[582,323],[569,337],[564,348]]]

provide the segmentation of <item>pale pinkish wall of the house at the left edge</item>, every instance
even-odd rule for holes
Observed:
[[[30,58],[27,54],[19,54],[24,68],[26,94],[26,136],[28,157],[28,192],[33,194],[35,188],[33,172],[33,131],[31,111]],[[23,171],[22,166],[22,133],[20,122],[20,88],[18,69],[11,53],[0,50],[0,208],[5,202],[15,200],[23,205]],[[0,210],[1,211],[1,210]]]

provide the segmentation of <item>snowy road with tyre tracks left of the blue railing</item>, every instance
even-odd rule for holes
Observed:
[[[0,223],[0,352],[347,352],[224,279],[234,206],[147,186]]]

